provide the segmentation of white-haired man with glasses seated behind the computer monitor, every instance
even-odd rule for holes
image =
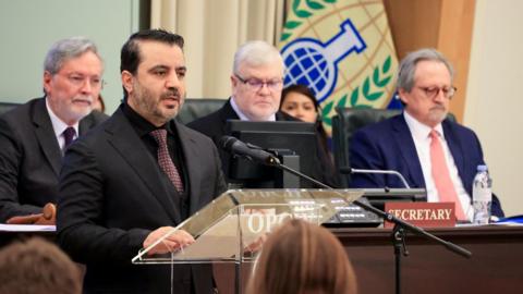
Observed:
[[[209,136],[216,144],[227,134],[228,120],[296,121],[297,119],[278,110],[283,89],[283,59],[277,48],[262,40],[247,41],[234,54],[230,77],[231,98],[218,111],[197,119],[187,126]],[[223,173],[228,176],[231,155],[219,151]],[[318,160],[324,162],[329,158],[319,151]],[[325,179],[319,164],[317,169],[312,176],[330,185],[338,184],[337,179]]]

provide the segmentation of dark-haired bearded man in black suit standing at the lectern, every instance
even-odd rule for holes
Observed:
[[[173,118],[185,97],[183,38],[138,32],[121,51],[124,102],[65,154],[58,241],[86,264],[86,293],[210,293],[210,266],[135,266],[158,241],[226,189],[212,142]],[[149,254],[194,242],[177,231]]]

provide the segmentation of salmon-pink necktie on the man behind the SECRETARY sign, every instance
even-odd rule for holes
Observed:
[[[430,166],[433,180],[438,191],[439,200],[442,203],[455,204],[455,217],[458,220],[466,220],[461,203],[455,193],[454,185],[450,179],[450,172],[445,160],[443,148],[439,142],[438,132],[430,131]]]

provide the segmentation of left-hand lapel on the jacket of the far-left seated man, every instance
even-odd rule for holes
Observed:
[[[47,112],[46,98],[36,101],[33,109],[33,123],[35,124],[35,133],[41,150],[51,164],[52,171],[58,176],[60,174],[62,155],[52,128],[51,118]]]

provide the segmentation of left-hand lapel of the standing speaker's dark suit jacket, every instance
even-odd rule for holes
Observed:
[[[149,155],[144,143],[120,109],[114,112],[111,122],[107,124],[106,132],[110,134],[110,144],[142,179],[143,183],[166,209],[174,223],[180,223],[180,211],[160,181],[162,175],[156,159]]]

